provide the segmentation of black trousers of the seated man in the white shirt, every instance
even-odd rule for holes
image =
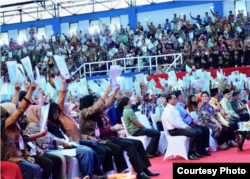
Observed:
[[[201,143],[202,132],[195,128],[192,129],[173,129],[169,130],[171,136],[187,136],[189,137],[189,153],[193,153],[197,149],[197,144]],[[198,147],[199,148],[199,147]]]

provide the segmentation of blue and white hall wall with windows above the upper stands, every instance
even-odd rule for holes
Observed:
[[[250,11],[250,0],[246,1],[247,9]],[[211,6],[214,6],[214,11],[218,11],[220,15],[228,15],[229,10],[234,10],[234,0],[178,0],[127,9],[53,18],[43,21],[0,25],[0,32],[8,32],[9,38],[18,39],[18,29],[29,29],[30,25],[33,25],[34,27],[45,27],[46,35],[48,36],[51,35],[51,32],[54,32],[54,34],[69,33],[69,23],[71,22],[79,22],[79,29],[86,32],[89,28],[89,20],[101,18],[103,23],[110,25],[111,17],[115,16],[120,16],[121,24],[124,27],[130,23],[131,26],[135,28],[139,21],[145,26],[145,18],[150,18],[155,25],[159,23],[164,25],[165,19],[169,18],[171,20],[175,12],[178,15],[181,13],[186,14],[188,19],[190,19],[190,12],[192,12],[194,17],[198,14],[203,17],[205,12],[209,12],[209,7]]]

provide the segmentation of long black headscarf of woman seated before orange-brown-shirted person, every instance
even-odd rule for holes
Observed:
[[[59,114],[61,113],[61,108],[57,103],[50,103],[49,106],[49,114],[48,114],[48,131],[59,138],[64,138],[60,129],[66,134],[66,130],[63,127],[62,122],[58,119],[54,120],[53,115],[56,110],[59,110]]]

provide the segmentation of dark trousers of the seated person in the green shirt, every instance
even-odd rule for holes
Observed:
[[[146,151],[149,154],[157,153],[161,133],[155,129],[141,128],[141,129],[135,131],[135,133],[133,134],[133,136],[142,136],[142,135],[146,135],[148,137],[151,137],[151,140],[148,144]]]

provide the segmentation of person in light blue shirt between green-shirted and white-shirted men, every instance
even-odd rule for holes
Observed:
[[[162,122],[161,122],[161,116],[163,114],[165,107],[167,106],[166,96],[167,96],[167,94],[165,94],[165,93],[161,95],[161,104],[159,106],[157,106],[157,108],[155,110],[155,115],[156,115],[156,119],[157,119],[156,125],[157,125],[157,129],[159,131],[164,131],[163,126],[162,126]]]

